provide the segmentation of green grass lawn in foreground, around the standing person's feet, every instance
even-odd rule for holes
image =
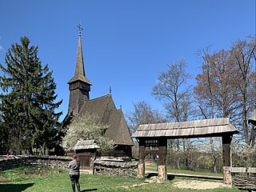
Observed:
[[[179,189],[174,186],[178,181],[190,181],[174,178],[164,183],[149,183],[150,179],[125,178],[110,175],[81,174],[81,191],[211,191],[231,192],[234,188],[218,188],[214,190]],[[1,182],[2,181],[2,182]],[[1,192],[65,192],[72,191],[68,170],[53,170],[46,168],[20,167],[0,172]]]

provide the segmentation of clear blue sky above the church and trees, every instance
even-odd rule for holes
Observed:
[[[0,0],[0,63],[24,35],[38,45],[42,64],[54,71],[62,118],[79,22],[90,98],[108,94],[111,85],[125,113],[142,100],[162,110],[151,95],[158,74],[185,58],[195,77],[201,72],[198,49],[228,49],[235,39],[255,34],[255,0]]]

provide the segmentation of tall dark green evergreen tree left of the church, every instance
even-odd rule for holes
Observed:
[[[22,37],[21,45],[11,45],[5,62],[6,67],[0,64],[0,111],[9,150],[33,154],[33,149],[53,147],[62,114],[54,110],[62,101],[55,102],[56,84],[48,65],[42,66],[38,58],[38,46],[30,46],[30,39]]]

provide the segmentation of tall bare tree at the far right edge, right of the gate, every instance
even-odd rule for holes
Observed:
[[[231,46],[232,62],[238,67],[236,85],[239,87],[242,105],[242,133],[246,148],[254,147],[255,130],[248,126],[247,118],[256,109],[256,41],[255,35],[238,39]],[[251,129],[250,129],[251,128]],[[250,154],[250,153],[247,153]],[[246,158],[246,166],[250,166],[250,155]]]

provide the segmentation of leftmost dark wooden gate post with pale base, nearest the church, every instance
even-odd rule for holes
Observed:
[[[145,178],[145,139],[138,142],[138,178]]]

